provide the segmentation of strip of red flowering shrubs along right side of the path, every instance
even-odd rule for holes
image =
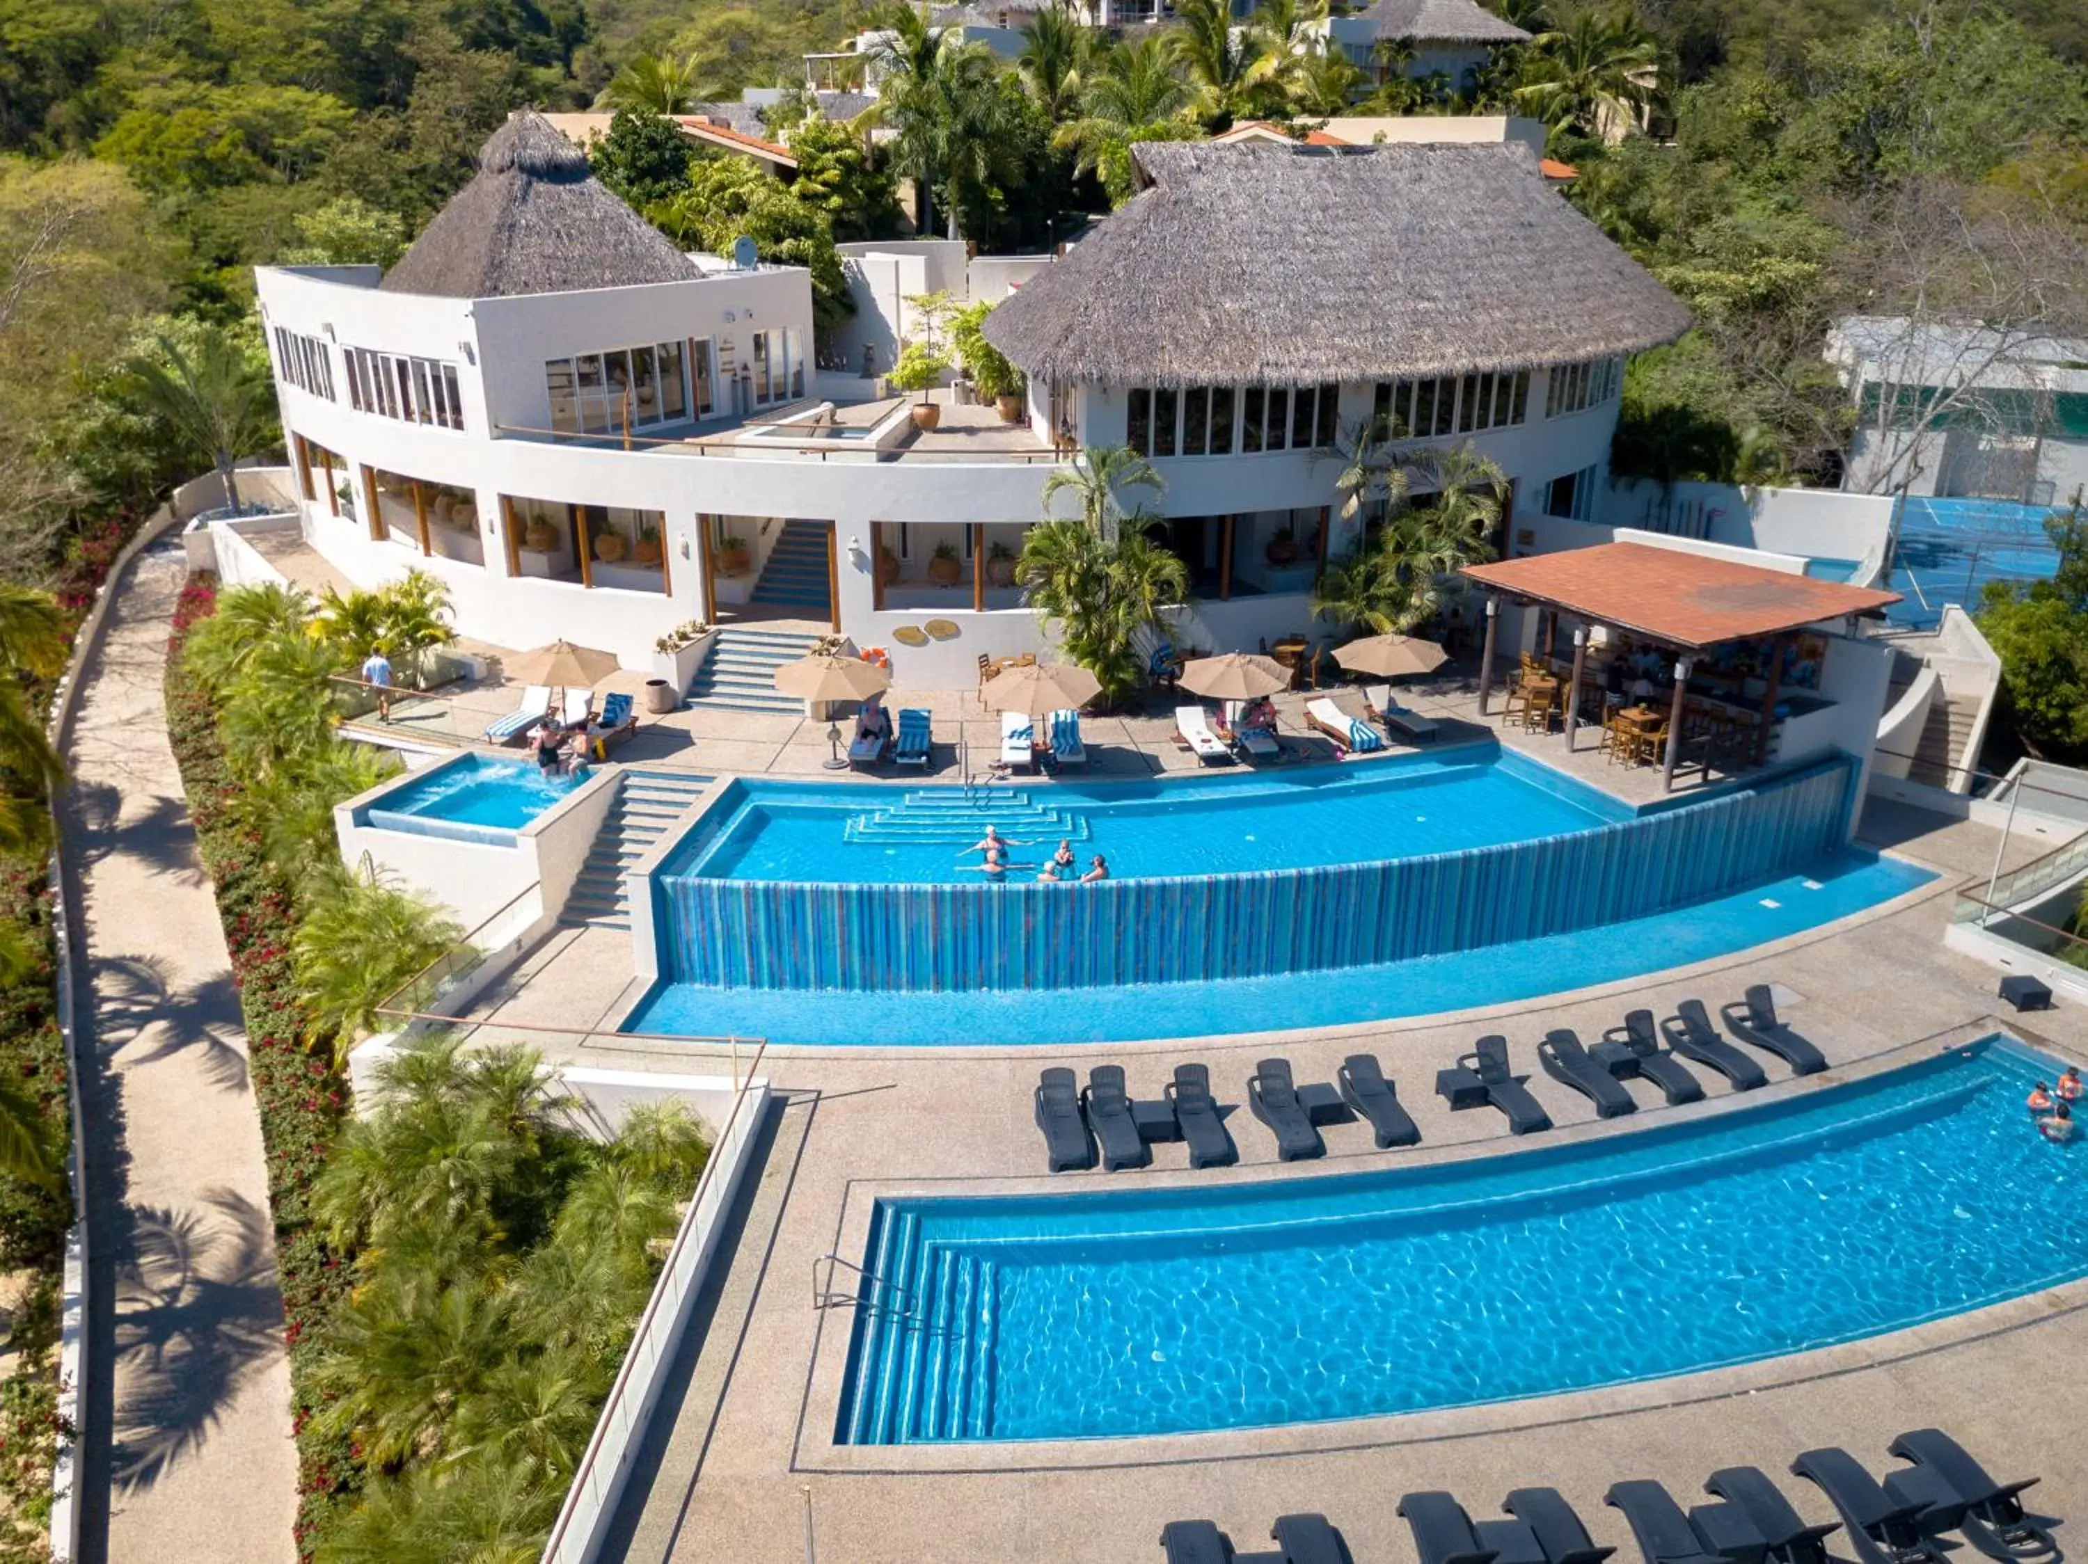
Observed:
[[[188,631],[211,616],[217,587],[192,576],[173,610],[167,639],[167,737],[196,821],[203,867],[217,887],[217,915],[232,952],[246,1044],[267,1148],[269,1207],[276,1217],[276,1265],[282,1276],[284,1343],[290,1349],[290,1412],[299,1449],[299,1551],[309,1556],[332,1510],[361,1487],[361,1462],[345,1439],[322,1437],[311,1422],[309,1343],[347,1295],[349,1267],[313,1232],[311,1182],[340,1134],[349,1092],[324,1052],[313,1052],[290,969],[294,900],[240,823],[240,785],[226,764],[217,710],[182,672]]]

